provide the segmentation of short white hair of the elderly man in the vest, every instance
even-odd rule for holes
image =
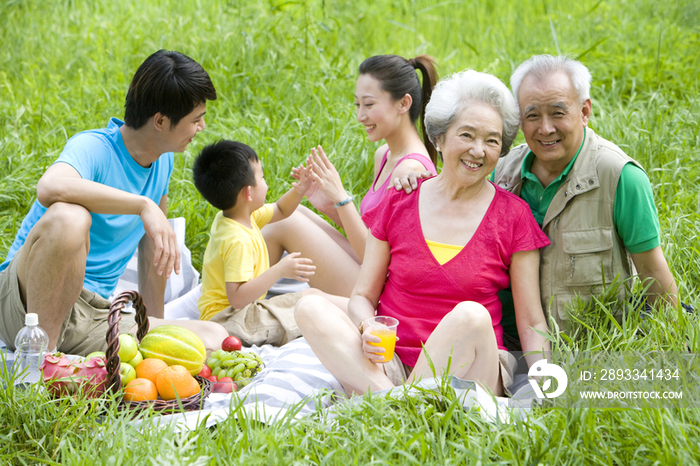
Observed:
[[[578,94],[579,104],[583,104],[591,95],[591,72],[586,65],[569,55],[533,55],[518,66],[510,77],[513,95],[518,98],[520,85],[525,76],[532,73],[537,80],[542,80],[554,73],[564,73]]]

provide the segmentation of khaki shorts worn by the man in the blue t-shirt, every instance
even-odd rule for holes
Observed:
[[[24,327],[24,317],[27,314],[19,293],[18,257],[19,251],[10,265],[0,272],[0,340],[12,350],[15,349],[15,337]],[[109,328],[107,324],[109,306],[110,302],[107,299],[83,288],[78,301],[73,305],[61,326],[58,351],[80,355],[93,351],[105,351]],[[42,322],[39,321],[40,327],[41,324]],[[135,314],[122,312],[119,331],[128,332],[135,325]]]

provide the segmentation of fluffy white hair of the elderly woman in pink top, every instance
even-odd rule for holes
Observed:
[[[501,115],[501,157],[518,134],[519,112],[513,94],[497,77],[474,70],[452,74],[437,83],[425,108],[425,128],[433,144],[444,136],[462,112],[475,102],[490,104]]]

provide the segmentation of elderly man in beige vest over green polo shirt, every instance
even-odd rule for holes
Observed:
[[[566,56],[522,63],[511,87],[527,144],[502,158],[493,175],[530,205],[551,241],[541,252],[541,298],[562,329],[568,302],[589,298],[616,277],[638,273],[648,301],[676,305],[649,178],[588,128],[590,82],[588,69]],[[620,294],[623,299],[624,286]]]

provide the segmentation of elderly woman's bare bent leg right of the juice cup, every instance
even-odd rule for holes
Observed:
[[[496,335],[491,316],[481,304],[468,301],[455,306],[435,327],[425,342],[425,351],[438,376],[445,371],[451,357],[450,374],[481,382],[495,395],[503,394]],[[409,380],[431,377],[433,371],[425,354],[421,353]]]

